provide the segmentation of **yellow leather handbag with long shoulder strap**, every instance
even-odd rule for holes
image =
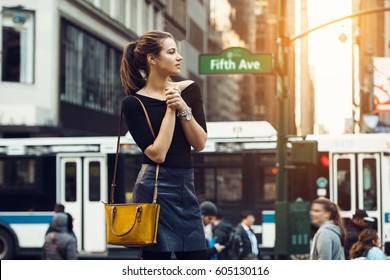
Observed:
[[[142,101],[136,98],[144,110],[149,129],[154,138],[152,124],[149,115]],[[157,243],[158,219],[160,216],[160,205],[157,204],[158,193],[158,173],[160,165],[156,166],[156,179],[154,185],[154,195],[152,203],[114,203],[114,191],[116,186],[116,170],[118,167],[118,154],[120,142],[120,130],[122,126],[122,115],[118,128],[118,141],[116,146],[114,176],[111,184],[110,203],[104,203],[106,214],[106,236],[107,243],[112,245],[122,245],[126,247],[142,247]]]

